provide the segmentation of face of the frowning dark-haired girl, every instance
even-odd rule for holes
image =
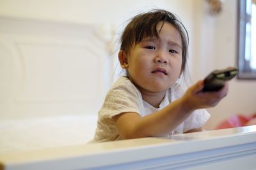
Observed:
[[[143,93],[159,93],[169,89],[180,75],[182,41],[180,34],[165,22],[157,24],[159,38],[144,38],[127,54],[127,70],[132,82]]]

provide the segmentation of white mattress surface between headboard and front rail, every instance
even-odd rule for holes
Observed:
[[[97,114],[0,121],[0,153],[86,144],[93,138]]]

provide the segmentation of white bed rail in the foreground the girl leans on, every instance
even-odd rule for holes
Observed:
[[[0,155],[0,169],[255,169],[256,126]]]

